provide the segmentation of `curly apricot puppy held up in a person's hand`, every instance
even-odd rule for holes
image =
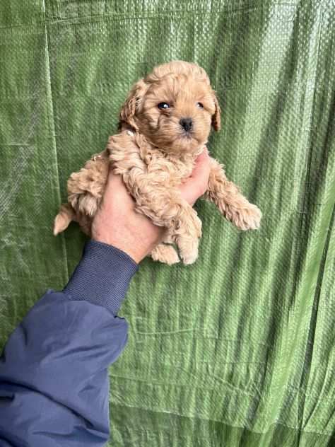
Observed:
[[[220,129],[220,107],[206,71],[183,61],[156,66],[132,86],[119,115],[119,133],[110,137],[105,151],[71,174],[68,203],[54,220],[54,235],[74,220],[90,236],[112,165],[134,198],[136,211],[167,228],[163,243],[151,252],[153,260],[178,262],[175,244],[184,264],[192,264],[198,256],[201,221],[182,199],[178,185],[191,175],[211,127]],[[237,228],[259,228],[261,211],[226,178],[214,158],[203,197]]]

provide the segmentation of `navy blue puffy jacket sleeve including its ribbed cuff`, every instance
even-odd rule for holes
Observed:
[[[47,290],[0,357],[0,446],[103,446],[109,437],[107,368],[127,343],[117,317],[138,265],[86,243],[62,291]]]

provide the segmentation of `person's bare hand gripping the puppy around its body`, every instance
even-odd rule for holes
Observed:
[[[210,171],[208,151],[196,158],[192,174],[180,185],[182,197],[192,206],[207,190]],[[92,238],[113,245],[140,262],[163,240],[166,228],[156,226],[151,219],[135,211],[120,175],[110,169],[102,204],[92,223]]]

